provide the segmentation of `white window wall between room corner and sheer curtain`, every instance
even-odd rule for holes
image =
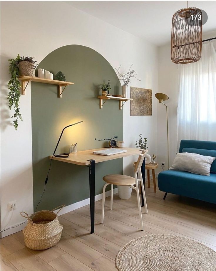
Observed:
[[[215,32],[203,33],[203,39],[216,37]],[[216,40],[212,40],[216,48]],[[178,102],[178,64],[171,61],[170,44],[159,48],[158,61],[158,92],[165,93],[169,100],[165,103],[168,106],[168,127],[169,127],[169,166],[173,163],[177,146],[177,102]],[[166,108],[158,103],[157,110],[157,161],[161,165],[165,161],[167,169],[167,131],[166,131]],[[158,172],[161,171],[158,167]]]

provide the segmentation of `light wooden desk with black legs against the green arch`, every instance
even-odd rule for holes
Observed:
[[[139,155],[140,150],[137,148],[122,148],[127,150],[125,153],[114,154],[110,156],[99,155],[92,153],[93,151],[106,150],[106,148],[92,149],[87,151],[78,151],[77,153],[70,153],[70,157],[55,157],[49,156],[50,159],[71,163],[79,166],[88,166],[89,167],[89,191],[90,191],[90,214],[91,214],[91,233],[94,232],[94,212],[95,212],[95,164],[100,162],[105,162],[113,159],[123,158],[132,155]],[[143,165],[141,167],[143,184],[145,185],[145,158]],[[143,193],[142,193],[142,205],[144,206]]]

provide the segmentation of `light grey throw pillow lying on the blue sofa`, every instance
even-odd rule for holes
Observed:
[[[215,157],[198,153],[177,153],[169,169],[209,176],[211,164],[214,160]]]

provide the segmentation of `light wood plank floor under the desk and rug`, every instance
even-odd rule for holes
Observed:
[[[146,185],[147,186],[147,185]],[[128,200],[113,196],[113,210],[105,201],[104,224],[101,204],[95,204],[95,233],[90,234],[89,206],[59,217],[63,224],[60,242],[43,251],[25,247],[22,232],[1,239],[1,271],[112,271],[119,249],[146,234],[175,234],[201,242],[216,251],[214,204],[164,193],[146,187],[148,214],[143,210],[144,231],[140,231],[136,194]]]

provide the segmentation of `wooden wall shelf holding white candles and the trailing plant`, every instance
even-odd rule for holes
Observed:
[[[62,92],[64,91],[66,86],[74,84],[72,82],[51,80],[51,79],[45,79],[45,78],[39,78],[39,77],[31,77],[31,76],[26,76],[26,75],[23,75],[23,76],[19,77],[18,79],[22,81],[22,85],[21,85],[22,95],[25,95],[26,87],[27,87],[27,85],[29,84],[30,81],[58,85],[58,98],[62,97]],[[28,82],[28,83],[26,84],[26,82]],[[62,87],[64,87],[63,90],[62,90]]]

